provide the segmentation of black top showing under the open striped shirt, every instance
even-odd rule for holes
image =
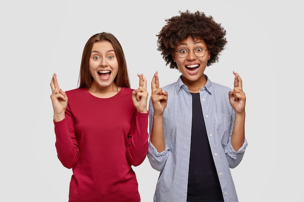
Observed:
[[[224,201],[211,155],[200,93],[192,94],[192,129],[187,201]]]

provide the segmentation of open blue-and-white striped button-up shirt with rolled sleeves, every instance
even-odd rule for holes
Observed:
[[[207,76],[205,76],[207,78]],[[192,95],[181,77],[162,88],[168,92],[168,103],[163,114],[165,151],[159,153],[149,139],[148,158],[153,169],[160,171],[154,193],[154,202],[186,202],[191,143]],[[242,160],[247,147],[235,151],[231,135],[235,111],[228,99],[231,89],[207,78],[200,90],[203,118],[214,163],[220,179],[225,202],[238,202],[230,168]],[[153,106],[149,103],[149,131],[151,136]]]

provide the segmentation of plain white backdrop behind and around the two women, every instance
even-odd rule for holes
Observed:
[[[176,81],[156,50],[156,34],[178,11],[200,10],[227,31],[227,49],[205,74],[233,87],[235,70],[247,95],[241,164],[232,170],[240,202],[303,201],[303,9],[296,0],[12,0],[0,3],[0,201],[67,202],[71,170],[59,162],[50,81],[77,87],[84,44],[113,33],[136,73],[160,85]],[[300,88],[301,87],[301,88]],[[115,106],[112,106],[115,108]],[[142,202],[158,177],[146,159],[134,168]]]

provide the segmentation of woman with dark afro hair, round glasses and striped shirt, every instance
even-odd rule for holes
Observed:
[[[204,70],[219,61],[226,31],[203,12],[179,12],[157,35],[158,50],[181,76],[159,87],[152,78],[149,150],[160,171],[154,202],[238,202],[230,169],[242,160],[245,103],[242,79],[234,88],[212,82]]]

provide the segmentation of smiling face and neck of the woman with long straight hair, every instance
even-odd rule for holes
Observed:
[[[89,66],[90,74],[94,79],[92,91],[116,89],[114,79],[118,74],[118,60],[109,41],[99,41],[93,45]]]

